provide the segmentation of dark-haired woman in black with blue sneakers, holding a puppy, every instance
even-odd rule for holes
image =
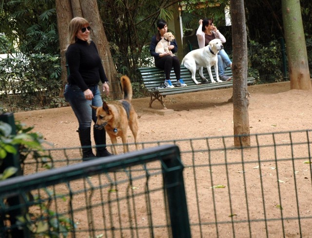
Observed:
[[[166,88],[174,88],[175,86],[172,85],[170,80],[170,72],[172,67],[174,68],[175,74],[176,74],[176,86],[177,87],[185,87],[186,84],[183,82],[183,80],[180,78],[180,62],[179,59],[176,56],[171,56],[171,51],[175,53],[177,51],[177,44],[176,40],[174,39],[172,42],[170,42],[170,46],[168,47],[169,51],[165,51],[163,53],[156,53],[156,45],[157,43],[164,38],[164,34],[167,33],[167,22],[163,19],[159,19],[157,21],[157,30],[158,33],[152,37],[151,45],[150,45],[150,53],[152,56],[154,56],[155,59],[155,66],[157,68],[161,68],[165,70],[165,87]]]

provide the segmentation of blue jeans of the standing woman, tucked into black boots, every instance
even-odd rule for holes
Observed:
[[[79,123],[79,129],[91,127],[92,120],[97,121],[96,111],[91,108],[93,106],[102,106],[103,101],[98,89],[98,85],[89,86],[94,98],[86,100],[82,90],[77,85],[65,86],[64,97],[71,105]]]

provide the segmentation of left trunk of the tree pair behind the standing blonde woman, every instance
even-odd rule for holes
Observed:
[[[58,32],[59,32],[59,49],[60,49],[60,65],[61,65],[61,81],[62,88],[59,96],[62,98],[64,94],[64,87],[67,84],[67,70],[65,60],[65,45],[67,44],[67,29],[68,23],[73,18],[71,11],[70,0],[56,0],[56,10],[58,19]]]

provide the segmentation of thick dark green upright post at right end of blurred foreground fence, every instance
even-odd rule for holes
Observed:
[[[164,160],[163,182],[168,204],[173,238],[191,238],[189,214],[185,195],[183,169],[179,148]]]

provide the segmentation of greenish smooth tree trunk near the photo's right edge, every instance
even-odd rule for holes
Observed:
[[[291,89],[311,89],[300,1],[282,0],[282,13]]]

